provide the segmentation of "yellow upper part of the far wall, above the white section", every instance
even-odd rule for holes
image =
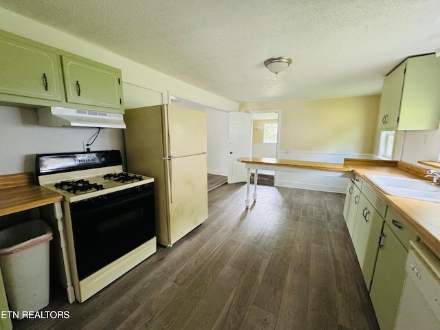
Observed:
[[[380,96],[241,104],[281,109],[280,151],[371,154]]]

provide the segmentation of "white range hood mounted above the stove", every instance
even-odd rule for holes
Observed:
[[[42,107],[38,109],[39,124],[45,126],[82,126],[106,129],[125,129],[124,116],[120,113]]]

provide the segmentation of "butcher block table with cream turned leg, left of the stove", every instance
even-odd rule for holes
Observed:
[[[61,263],[63,274],[61,281],[67,289],[69,303],[75,300],[74,287],[70,274],[69,256],[67,251],[66,234],[63,225],[63,211],[61,201],[63,196],[43,188],[34,183],[32,173],[18,173],[0,175],[0,216],[13,214],[32,208],[45,207],[47,220],[52,228],[57,228],[59,239],[56,239],[60,246],[61,256],[58,262]],[[43,212],[44,210],[41,209]],[[54,235],[58,236],[58,235]],[[55,238],[55,237],[54,237]]]

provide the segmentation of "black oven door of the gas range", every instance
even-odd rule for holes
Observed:
[[[70,204],[82,280],[155,236],[153,183]]]

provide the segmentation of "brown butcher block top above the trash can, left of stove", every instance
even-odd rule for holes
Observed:
[[[0,175],[0,216],[62,200],[63,196],[34,184],[32,173]]]

